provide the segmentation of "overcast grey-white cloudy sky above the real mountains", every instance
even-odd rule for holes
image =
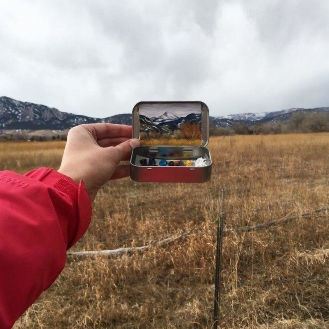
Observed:
[[[0,96],[97,117],[329,106],[329,1],[4,0]]]

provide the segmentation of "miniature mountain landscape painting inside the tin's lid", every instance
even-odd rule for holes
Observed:
[[[201,145],[201,105],[141,104],[140,140],[144,145]]]

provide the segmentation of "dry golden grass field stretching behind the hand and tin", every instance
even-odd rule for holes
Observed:
[[[65,142],[1,143],[0,168],[58,168]],[[203,184],[111,181],[73,248],[143,246],[143,254],[68,259],[14,328],[211,328],[216,218],[227,229],[312,212],[223,238],[220,328],[328,328],[329,134],[211,138]]]

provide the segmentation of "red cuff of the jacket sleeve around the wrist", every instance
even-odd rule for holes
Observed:
[[[91,219],[91,201],[83,181],[77,184],[70,177],[50,168],[34,169],[25,176],[39,180],[70,199],[77,214],[76,218],[68,221],[67,249],[71,248],[87,231]]]

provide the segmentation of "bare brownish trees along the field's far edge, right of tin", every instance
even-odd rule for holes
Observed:
[[[227,128],[210,125],[212,136],[225,135],[260,135],[260,134],[288,134],[288,133],[319,133],[329,131],[328,112],[295,112],[286,122],[256,124],[234,124]]]

